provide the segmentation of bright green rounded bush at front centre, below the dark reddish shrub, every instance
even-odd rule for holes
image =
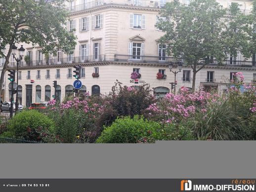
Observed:
[[[137,141],[160,129],[157,122],[149,122],[135,115],[133,119],[117,119],[110,127],[104,127],[96,143],[137,143]]]

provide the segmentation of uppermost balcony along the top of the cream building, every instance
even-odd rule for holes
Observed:
[[[158,2],[153,0],[94,0],[94,1],[86,2],[84,4],[68,7],[67,10],[73,13],[73,12],[83,11],[86,9],[103,6],[107,4],[150,7],[150,8],[161,8],[165,6],[165,2]]]

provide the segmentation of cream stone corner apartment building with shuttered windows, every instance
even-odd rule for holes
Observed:
[[[189,3],[189,0],[181,0]],[[56,96],[62,100],[73,93],[75,65],[82,66],[81,92],[89,94],[108,94],[116,80],[123,85],[137,86],[150,84],[159,96],[171,92],[174,74],[169,64],[175,62],[166,53],[166,45],[159,39],[164,34],[155,27],[159,11],[166,0],[72,0],[67,3],[70,18],[67,29],[77,35],[77,45],[73,54],[65,55],[60,49],[56,56],[45,56],[41,47],[23,44],[29,61],[21,62],[19,67],[19,102],[30,106],[32,102],[48,101],[54,95],[53,81],[57,81]],[[219,0],[224,7],[240,3],[241,10],[248,14],[252,0]],[[16,63],[10,61],[9,67]],[[136,71],[140,75],[131,78]],[[196,87],[215,88],[219,92],[226,89],[225,82],[233,78],[233,73],[242,71],[245,82],[256,80],[256,56],[244,61],[241,54],[229,57],[224,66],[209,64],[197,73]],[[162,78],[157,78],[157,73]],[[183,64],[176,75],[180,87],[192,87],[192,69]],[[10,99],[10,90],[5,78],[3,100]],[[6,84],[7,83],[7,84]]]

